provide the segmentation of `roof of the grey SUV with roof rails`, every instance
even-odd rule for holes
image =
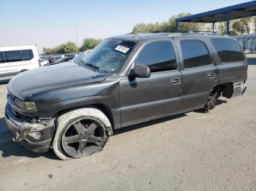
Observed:
[[[212,34],[212,33],[206,33],[206,32],[186,32],[186,33],[140,33],[140,34],[124,34],[119,36],[112,36],[108,39],[123,39],[127,41],[132,42],[140,42],[146,39],[157,39],[157,38],[163,38],[163,37],[175,37],[175,36],[211,36],[211,37],[217,37],[217,36],[227,36],[225,34]]]

